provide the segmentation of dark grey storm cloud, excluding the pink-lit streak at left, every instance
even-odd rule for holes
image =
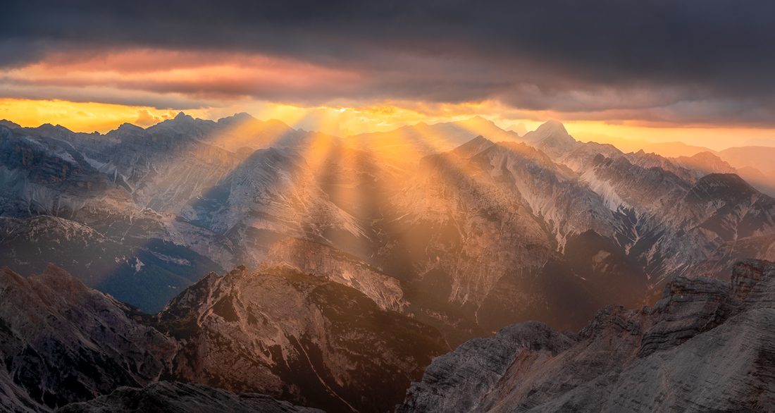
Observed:
[[[673,108],[692,119],[766,123],[775,109],[773,19],[775,2],[741,0],[28,0],[5,5],[0,64],[50,50],[234,50],[372,79],[368,88],[326,91],[332,98],[491,98],[558,112]],[[687,109],[691,102],[713,109]],[[758,110],[740,109],[749,107]]]

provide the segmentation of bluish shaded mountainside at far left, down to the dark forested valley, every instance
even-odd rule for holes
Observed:
[[[215,260],[230,265],[227,239],[140,208],[115,170],[95,168],[73,144],[51,136],[76,134],[0,127],[0,264],[39,272],[50,260],[146,311],[221,270]],[[49,258],[41,261],[41,253]]]

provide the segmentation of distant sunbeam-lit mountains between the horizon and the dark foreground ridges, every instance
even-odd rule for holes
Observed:
[[[531,319],[577,329],[775,245],[775,201],[721,153],[622,153],[555,121],[339,139],[181,113],[105,135],[5,123],[0,145],[0,263],[57,263],[149,313],[209,272],[287,265],[454,346]]]

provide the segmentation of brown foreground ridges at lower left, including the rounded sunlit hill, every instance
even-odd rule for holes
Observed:
[[[210,274],[157,315],[54,266],[26,278],[3,270],[0,298],[0,406],[9,411],[81,401],[65,411],[291,409],[253,393],[329,411],[384,411],[449,351],[436,329],[287,267]]]

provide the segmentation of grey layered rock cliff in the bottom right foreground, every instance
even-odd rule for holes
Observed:
[[[775,264],[745,260],[729,283],[679,277],[577,336],[515,325],[434,360],[398,411],[767,411],[773,291]]]

